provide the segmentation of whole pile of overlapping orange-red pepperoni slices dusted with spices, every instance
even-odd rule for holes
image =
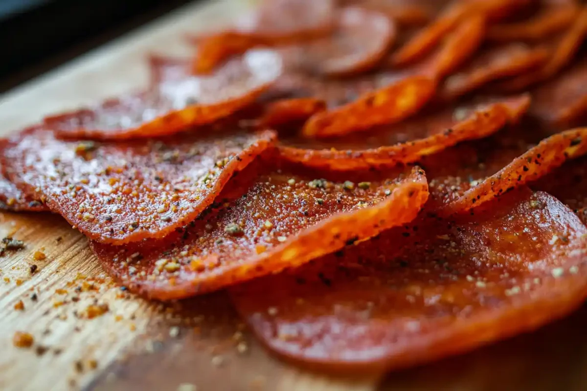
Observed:
[[[587,6],[274,0],[150,86],[2,141],[2,206],[272,351],[396,369],[587,298]]]

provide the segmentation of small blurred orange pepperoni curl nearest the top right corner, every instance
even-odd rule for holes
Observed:
[[[487,39],[494,42],[537,42],[566,29],[579,13],[577,4],[545,5],[522,22],[491,26]]]

